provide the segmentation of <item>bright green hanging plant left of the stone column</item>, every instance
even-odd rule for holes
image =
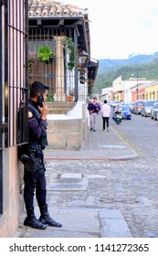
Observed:
[[[41,61],[49,61],[54,56],[53,50],[47,46],[39,46],[37,51],[37,59]]]

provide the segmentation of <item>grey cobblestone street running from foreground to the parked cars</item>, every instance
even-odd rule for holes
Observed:
[[[142,127],[143,130],[141,130]],[[99,129],[101,129],[101,123]],[[101,136],[109,135],[109,133],[102,135],[103,132],[99,129],[95,136],[99,136],[99,133]],[[61,212],[62,209],[75,209],[77,212],[82,210],[89,213],[94,209],[119,210],[132,237],[158,237],[158,160],[156,158],[158,129],[156,123],[149,118],[132,115],[132,121],[124,121],[118,126],[111,120],[111,133],[113,133],[112,129],[132,147],[138,157],[129,160],[119,158],[117,160],[85,160],[84,157],[80,157],[74,160],[73,155],[64,158],[64,153],[60,159],[46,157],[49,208],[52,208],[52,211],[53,208],[58,208]],[[140,131],[143,132],[140,133]],[[93,136],[93,133],[90,133],[90,136]],[[118,145],[118,143],[119,141],[115,140],[115,144]],[[94,144],[95,142],[93,146]],[[121,151],[119,147],[117,153],[118,151]],[[68,152],[65,154],[68,156]],[[64,226],[64,219],[70,217],[61,214],[59,218]],[[82,225],[82,220],[78,219],[78,224]],[[26,236],[34,236],[33,232],[36,231],[27,231]],[[100,237],[97,228],[96,234],[94,230],[90,230],[87,235],[82,233],[80,236],[88,237],[92,233],[93,237]],[[69,233],[70,235],[78,237],[79,233]],[[54,236],[61,237],[61,233],[57,231]],[[68,237],[68,233],[63,232],[64,236]]]

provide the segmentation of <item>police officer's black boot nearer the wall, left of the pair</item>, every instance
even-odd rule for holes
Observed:
[[[44,225],[42,222],[40,222],[34,213],[34,208],[27,208],[26,209],[27,217],[24,220],[24,225],[29,226],[33,229],[47,229],[47,225]]]

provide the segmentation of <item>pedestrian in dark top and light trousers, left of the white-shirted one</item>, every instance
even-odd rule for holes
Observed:
[[[90,131],[96,132],[96,119],[100,112],[100,103],[97,102],[97,97],[93,97],[93,101],[89,103],[88,110],[90,112]]]

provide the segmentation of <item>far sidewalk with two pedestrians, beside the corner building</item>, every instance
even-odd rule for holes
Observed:
[[[51,159],[81,159],[81,160],[128,160],[137,157],[132,148],[126,144],[113,127],[116,123],[111,119],[110,132],[102,131],[102,119],[98,117],[96,132],[89,132],[86,142],[79,151],[45,150],[45,158]],[[123,125],[121,123],[120,125]],[[89,128],[90,131],[90,128]]]

